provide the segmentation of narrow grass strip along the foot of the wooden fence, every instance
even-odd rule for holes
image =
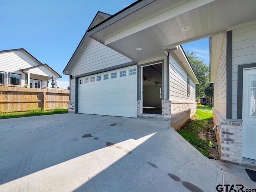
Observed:
[[[0,112],[0,119],[52,115],[52,114],[62,114],[62,113],[68,113],[68,110],[54,109],[54,110],[44,111],[40,109],[35,109],[35,110],[24,111],[24,112]]]

